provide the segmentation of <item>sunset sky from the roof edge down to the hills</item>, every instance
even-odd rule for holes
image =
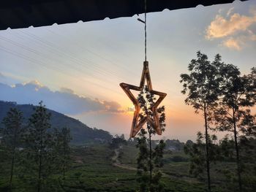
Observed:
[[[144,34],[138,18],[143,15],[0,31],[0,100],[42,100],[88,126],[128,137],[133,105],[119,83],[140,83]],[[210,61],[219,53],[243,74],[256,66],[256,1],[148,13],[147,42],[153,88],[167,93],[167,127],[155,138],[194,140],[203,119],[184,104],[180,74],[197,50]]]

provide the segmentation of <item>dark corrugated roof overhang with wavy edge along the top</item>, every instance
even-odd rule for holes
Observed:
[[[198,4],[227,4],[233,1],[147,0],[147,12],[196,7]],[[0,30],[131,17],[143,12],[144,0],[6,0],[0,4]]]

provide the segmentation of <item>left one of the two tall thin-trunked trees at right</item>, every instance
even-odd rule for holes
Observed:
[[[206,139],[206,169],[208,191],[211,191],[209,149],[208,149],[208,129],[212,120],[212,113],[217,107],[219,96],[219,66],[221,65],[220,55],[216,55],[213,62],[208,61],[207,55],[197,52],[197,59],[192,59],[188,69],[189,74],[181,74],[183,90],[181,93],[187,94],[185,103],[192,105],[196,113],[203,114],[205,122]]]

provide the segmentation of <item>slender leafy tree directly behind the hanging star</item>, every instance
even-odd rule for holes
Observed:
[[[145,97],[145,98],[144,98]],[[151,107],[154,104],[156,98],[154,94],[148,91],[148,87],[145,86],[143,91],[140,91],[138,95],[138,101],[142,112],[139,114],[139,118],[153,118],[153,112]],[[165,107],[159,107],[157,109],[159,115],[159,123],[162,131],[165,131]],[[138,164],[138,183],[140,183],[140,191],[162,191],[162,184],[160,179],[162,177],[159,168],[162,167],[162,155],[165,147],[163,140],[159,141],[159,144],[152,149],[151,138],[156,134],[156,131],[151,124],[146,124],[146,129],[141,129],[137,138],[138,144],[136,147],[139,149],[139,155],[137,159]]]

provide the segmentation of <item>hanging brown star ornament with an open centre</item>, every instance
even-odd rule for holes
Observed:
[[[139,113],[140,113],[140,103],[139,103],[138,99],[135,98],[135,96],[132,94],[132,92],[130,90],[143,91],[145,81],[147,82],[147,85],[148,85],[148,91],[154,95],[159,96],[159,99],[157,99],[157,101],[151,107],[151,111],[153,112],[154,118],[144,117],[144,118],[138,120]],[[129,97],[129,99],[132,100],[132,103],[135,106],[135,112],[134,112],[134,116],[133,116],[133,120],[132,120],[132,128],[131,128],[129,137],[135,137],[136,134],[138,134],[138,131],[140,131],[140,128],[142,128],[146,122],[150,123],[150,125],[154,128],[154,130],[157,132],[157,134],[161,135],[162,130],[160,128],[157,107],[162,102],[162,100],[165,99],[165,96],[167,94],[153,90],[152,84],[151,84],[150,73],[149,73],[149,69],[148,69],[148,61],[144,61],[144,63],[143,63],[143,72],[141,75],[139,87],[135,86],[135,85],[129,85],[124,82],[121,82],[120,86],[121,86],[121,88],[123,88],[124,92],[127,93],[127,96]]]

